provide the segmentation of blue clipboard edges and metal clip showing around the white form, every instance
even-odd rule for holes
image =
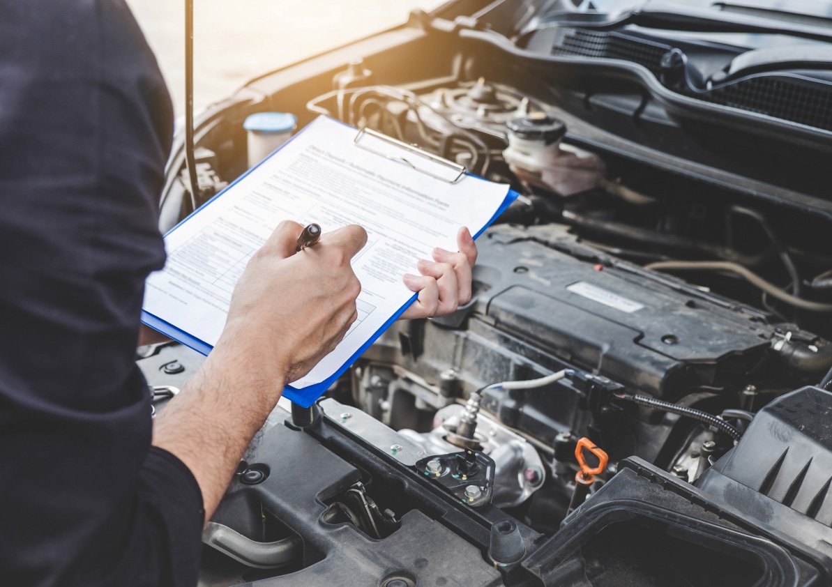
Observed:
[[[332,119],[332,120],[334,120],[334,119]],[[346,125],[344,122],[341,122],[341,121],[336,121],[336,122],[339,122],[339,124],[343,124],[344,126],[349,126],[349,125]],[[353,128],[353,127],[350,126],[350,128]],[[295,136],[300,136],[300,133],[302,133],[303,131],[304,130],[301,129],[300,131],[298,131],[295,134]],[[359,136],[361,136],[362,132],[364,132],[364,131],[359,131],[359,135],[356,136],[356,141],[358,140]],[[290,141],[292,141],[295,138],[295,136],[293,136],[289,141],[286,141],[283,145],[278,147],[268,157],[266,157],[264,160],[260,161],[259,164],[255,165],[250,170],[246,171],[245,174],[240,175],[240,177],[238,177],[236,180],[234,180],[234,182],[231,183],[228,187],[226,187],[225,190],[220,191],[219,194],[215,195],[213,198],[208,200],[204,205],[201,205],[196,211],[192,212],[191,215],[188,215],[184,220],[181,220],[181,222],[179,224],[176,224],[176,226],[174,226],[172,229],[170,229],[165,234],[165,236],[167,236],[167,234],[171,234],[171,232],[178,229],[182,224],[185,224],[188,220],[191,220],[192,218],[194,218],[194,216],[199,214],[201,210],[205,210],[205,208],[207,206],[209,206],[212,202],[214,202],[218,198],[222,197],[222,195],[224,195],[228,190],[231,190],[240,180],[245,178],[246,175],[249,175],[253,170],[257,169],[257,167],[259,167],[260,165],[263,165],[263,163],[265,163],[265,161],[269,160],[272,156],[275,155],[275,153],[280,151],[280,149],[282,149],[284,146],[288,145],[290,143]],[[404,143],[401,143],[400,141],[395,141],[394,139],[390,139],[389,137],[384,137],[384,139],[388,142],[392,142],[396,145],[402,146],[402,148],[404,148],[404,149],[414,151],[414,152],[418,152],[418,155],[421,155],[423,157],[427,157],[431,160],[438,160],[438,157],[436,157],[436,155],[426,154],[423,151],[420,151],[420,150],[414,148],[413,146],[406,145]],[[404,158],[402,158],[401,160],[403,160],[404,163],[407,163],[408,165],[410,165],[414,169],[417,169],[416,167],[414,167],[414,165],[411,165],[408,160],[404,160]],[[442,160],[442,161],[444,161],[444,160]],[[456,166],[456,164],[451,163],[449,161],[447,161],[446,163],[447,163],[447,165],[450,165],[452,167]],[[470,175],[472,177],[477,177],[477,179],[479,179],[479,180],[483,179],[481,177],[478,177],[477,175],[473,175],[473,174],[469,174],[469,173],[465,172],[464,168],[462,168],[462,169],[463,170],[460,172],[460,176],[461,175]],[[431,175],[431,174],[428,174],[428,175]],[[435,175],[433,175],[433,176],[435,177]],[[441,179],[441,178],[439,178],[439,179]],[[458,179],[459,179],[459,177],[457,177],[457,180]],[[450,183],[454,183],[454,181],[450,181]],[[473,234],[473,238],[477,239],[480,234],[483,234],[485,229],[487,229],[488,226],[493,224],[494,220],[497,220],[497,217],[499,215],[503,214],[503,212],[508,208],[508,206],[511,205],[514,200],[517,200],[517,198],[518,198],[518,193],[516,191],[508,190],[508,194],[506,195],[506,199],[503,200],[503,204],[500,205],[500,207],[498,208],[497,212],[494,213],[491,220],[488,220],[488,223],[485,226],[483,226],[483,228],[480,229],[477,232],[477,234]],[[298,404],[302,407],[310,407],[315,402],[315,400],[317,400],[319,397],[321,397],[324,394],[324,392],[326,392],[329,389],[329,387],[331,387],[332,384],[339,377],[341,377],[341,375],[343,375],[344,372],[347,369],[349,369],[349,367],[351,367],[352,364],[355,363],[355,361],[358,360],[358,358],[362,354],[364,354],[364,351],[367,350],[367,348],[369,348],[376,341],[376,339],[378,339],[384,333],[384,331],[387,330],[399,318],[399,316],[401,316],[404,313],[404,311],[407,308],[409,308],[410,304],[414,303],[414,301],[416,301],[417,297],[418,297],[418,294],[414,293],[414,296],[412,298],[410,298],[408,300],[408,302],[405,303],[401,308],[399,308],[399,310],[396,313],[394,313],[394,315],[391,316],[390,319],[387,322],[385,322],[384,325],[381,328],[379,328],[379,330],[377,330],[373,334],[373,336],[371,336],[364,343],[364,345],[362,345],[362,347],[359,348],[359,350],[356,351],[353,354],[353,356],[350,357],[346,361],[346,363],[341,365],[341,367],[339,367],[339,369],[336,372],[334,372],[330,377],[327,377],[322,382],[315,383],[314,385],[310,385],[309,387],[304,387],[302,389],[297,389],[295,387],[292,387],[291,385],[287,385],[283,390],[283,395],[285,397],[288,397],[292,402],[295,402],[296,404]],[[141,322],[145,323],[147,326],[153,328],[154,330],[157,330],[160,333],[164,334],[166,337],[172,338],[176,342],[182,343],[182,344],[186,345],[186,347],[192,348],[197,353],[201,353],[205,356],[208,356],[208,353],[210,353],[211,349],[213,348],[213,347],[210,346],[210,344],[206,343],[205,341],[200,340],[199,338],[196,338],[194,336],[191,336],[191,334],[186,333],[184,330],[181,330],[180,328],[176,328],[176,326],[174,326],[173,324],[171,324],[169,322],[166,322],[165,320],[162,320],[161,318],[155,316],[154,314],[146,312],[143,309],[141,310]]]

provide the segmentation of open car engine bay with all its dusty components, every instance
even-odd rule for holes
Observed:
[[[171,159],[162,228],[245,172],[241,121],[265,110],[522,194],[478,239],[469,303],[395,323],[313,408],[275,409],[206,529],[201,585],[832,580],[829,142],[750,123],[759,107],[674,109],[604,70],[620,41],[569,45],[591,36],[574,18],[507,35],[498,7],[520,3],[414,13],[252,81],[201,116],[201,194]],[[562,62],[529,56],[544,46]],[[579,75],[576,54],[601,61]],[[159,388],[200,363],[140,349]]]

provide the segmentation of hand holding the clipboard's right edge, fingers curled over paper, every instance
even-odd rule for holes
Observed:
[[[471,300],[471,272],[477,261],[477,245],[467,228],[459,229],[457,244],[458,253],[433,249],[433,262],[427,259],[418,262],[421,275],[404,276],[404,284],[418,292],[418,298],[402,318],[442,316]]]

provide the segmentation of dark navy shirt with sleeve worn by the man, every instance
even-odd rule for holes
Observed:
[[[0,0],[0,585],[196,585],[134,362],[171,135],[123,0]]]

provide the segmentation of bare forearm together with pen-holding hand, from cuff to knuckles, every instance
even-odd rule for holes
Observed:
[[[156,418],[153,444],[196,477],[206,519],[286,383],[310,371],[354,322],[361,286],[349,264],[367,234],[347,226],[295,254],[285,222],[250,260],[225,328],[201,370]]]

